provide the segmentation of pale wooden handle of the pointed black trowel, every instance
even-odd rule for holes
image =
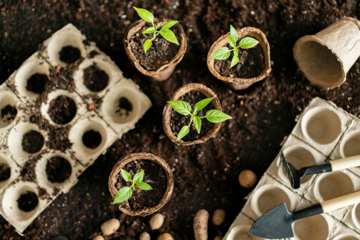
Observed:
[[[345,196],[323,201],[320,204],[323,207],[324,213],[327,213],[359,202],[360,191],[357,191],[355,193],[347,194]]]

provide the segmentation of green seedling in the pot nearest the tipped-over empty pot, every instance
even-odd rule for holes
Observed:
[[[239,45],[236,46],[236,43],[239,40],[238,33],[236,32],[235,28],[230,25],[230,35],[227,35],[228,42],[233,49],[229,49],[228,47],[220,47],[215,51],[214,54],[212,54],[210,60],[217,59],[217,60],[224,60],[229,58],[230,53],[233,51],[234,56],[231,60],[230,68],[235,66],[239,62],[239,47],[242,49],[251,48],[259,43],[256,39],[253,39],[252,37],[244,37],[240,40]]]

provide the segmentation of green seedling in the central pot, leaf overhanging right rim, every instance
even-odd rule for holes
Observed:
[[[232,117],[230,117],[228,114],[225,114],[219,110],[216,109],[212,109],[209,110],[205,116],[203,117],[199,117],[196,116],[196,114],[198,113],[198,111],[202,110],[204,107],[206,107],[212,100],[213,98],[206,98],[203,99],[201,101],[199,101],[197,104],[195,104],[194,106],[194,111],[192,111],[191,106],[189,103],[186,103],[185,101],[168,101],[167,103],[169,103],[172,108],[174,108],[174,110],[182,115],[191,115],[191,119],[190,119],[190,123],[187,126],[184,126],[181,128],[179,134],[177,135],[177,139],[176,141],[179,141],[180,139],[182,139],[183,137],[186,136],[186,134],[189,133],[190,131],[190,126],[192,123],[194,123],[194,126],[196,128],[196,130],[198,131],[198,133],[200,134],[200,130],[201,130],[201,119],[202,118],[206,118],[207,121],[212,122],[212,123],[218,123],[218,122],[224,122],[225,120],[231,119]]]

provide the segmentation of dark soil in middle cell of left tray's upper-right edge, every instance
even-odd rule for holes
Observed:
[[[91,53],[90,53],[91,54]],[[84,85],[93,92],[99,92],[108,85],[109,76],[94,63],[84,70]]]

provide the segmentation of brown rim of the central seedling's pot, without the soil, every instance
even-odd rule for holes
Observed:
[[[219,101],[219,98],[217,98],[217,95],[215,94],[215,92],[213,92],[210,88],[208,88],[207,86],[200,84],[200,83],[190,83],[183,87],[180,87],[172,96],[172,100],[178,100],[181,96],[183,96],[186,93],[193,91],[193,90],[201,92],[207,98],[213,97],[214,99],[211,101],[212,104],[214,105],[216,110],[221,111],[220,101]],[[206,142],[208,139],[210,139],[210,137],[215,135],[220,130],[221,123],[214,123],[213,129],[211,131],[208,131],[208,133],[205,136],[201,137],[200,139],[193,140],[193,141],[184,141],[184,140],[176,141],[177,137],[174,135],[174,132],[172,132],[171,127],[170,127],[171,112],[172,112],[172,106],[170,104],[166,104],[164,111],[163,111],[162,124],[163,124],[166,135],[170,138],[171,141],[173,141],[177,144],[187,146],[187,145],[192,145],[192,144],[203,143],[203,142]]]

